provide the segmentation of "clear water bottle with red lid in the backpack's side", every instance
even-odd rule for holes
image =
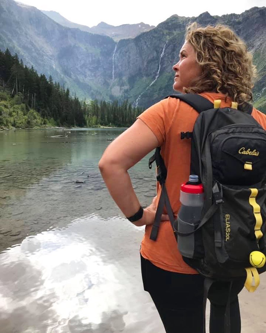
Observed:
[[[192,232],[199,225],[204,202],[203,186],[199,183],[198,175],[191,174],[189,181],[181,185],[180,202],[181,207],[176,220],[178,231]],[[202,252],[202,240],[198,240],[198,236],[198,231],[187,236],[178,235],[178,249],[184,257],[197,258],[196,252]]]

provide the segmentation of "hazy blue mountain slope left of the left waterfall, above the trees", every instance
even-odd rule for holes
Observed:
[[[110,37],[63,27],[35,7],[0,0],[0,49],[6,48],[81,98],[109,98],[104,87],[115,49]]]

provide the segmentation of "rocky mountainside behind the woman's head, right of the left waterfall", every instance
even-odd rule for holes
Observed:
[[[266,88],[264,89],[266,87],[265,15],[266,8],[263,7],[252,8],[241,15],[231,14],[219,17],[203,13],[197,18],[193,18],[193,21],[202,26],[208,24],[228,25],[245,40],[248,49],[253,52],[254,62],[258,68],[254,99],[259,105],[265,105],[263,101],[265,101],[266,93]],[[120,41],[115,54],[119,68],[115,71],[117,76],[112,86],[117,84],[121,92],[122,84],[127,83],[129,89],[125,90],[124,97],[129,97],[130,101],[133,102],[136,101],[138,92],[141,92],[138,104],[145,107],[149,106],[151,102],[156,102],[163,96],[173,93],[171,89],[173,83],[172,66],[178,60],[179,50],[184,42],[185,27],[191,21],[191,18],[174,15],[149,33],[138,36],[134,40]],[[160,63],[160,75],[146,90],[156,78],[160,54],[166,41],[167,44]],[[118,87],[116,87],[116,91],[118,91]],[[264,110],[266,112],[266,109]]]

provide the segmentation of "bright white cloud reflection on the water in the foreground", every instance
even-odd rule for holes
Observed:
[[[142,234],[90,215],[2,252],[1,332],[164,332],[142,290]]]

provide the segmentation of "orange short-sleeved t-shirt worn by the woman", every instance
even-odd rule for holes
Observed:
[[[213,103],[221,100],[221,108],[230,107],[231,100],[218,93],[200,94]],[[166,188],[174,215],[177,216],[180,208],[180,186],[189,179],[191,140],[181,140],[181,132],[192,132],[198,112],[185,102],[176,98],[164,99],[146,111],[140,118],[157,137],[161,146],[161,155],[167,168]],[[266,129],[266,115],[255,108],[252,116]],[[157,204],[161,194],[161,186],[157,186]],[[165,211],[166,212],[166,211]],[[197,274],[198,272],[188,266],[182,259],[177,248],[177,241],[170,221],[161,221],[156,241],[150,239],[152,225],[147,225],[141,242],[141,255],[162,269]]]

